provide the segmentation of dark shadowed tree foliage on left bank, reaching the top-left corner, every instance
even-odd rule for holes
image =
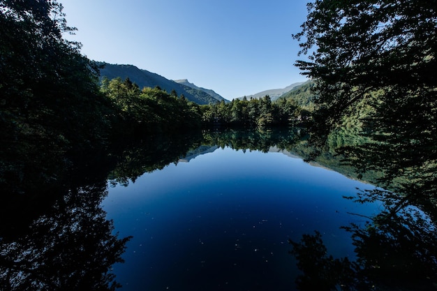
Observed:
[[[109,104],[98,93],[96,68],[62,38],[57,1],[0,2],[0,183],[50,181],[68,158],[100,148]]]

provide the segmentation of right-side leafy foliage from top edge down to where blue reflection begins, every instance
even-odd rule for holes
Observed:
[[[314,49],[297,62],[316,83],[313,142],[332,143],[329,135],[346,127],[365,142],[343,149],[350,165],[384,172],[378,183],[390,188],[421,177],[414,195],[429,193],[437,179],[435,3],[328,0],[308,10],[295,38],[305,39],[301,52]]]

